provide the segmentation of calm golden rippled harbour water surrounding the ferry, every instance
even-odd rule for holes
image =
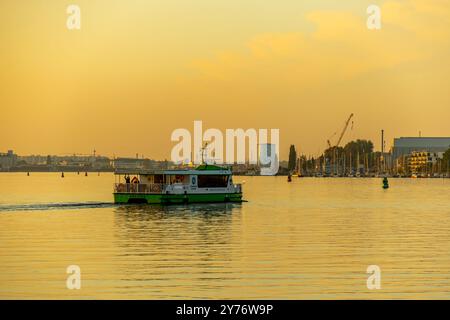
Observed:
[[[0,298],[450,298],[450,179],[235,180],[249,202],[116,206],[111,174],[0,174]]]

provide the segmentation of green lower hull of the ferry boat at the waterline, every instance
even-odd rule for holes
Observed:
[[[114,203],[215,203],[242,202],[242,193],[196,193],[196,194],[150,194],[150,193],[114,193]]]

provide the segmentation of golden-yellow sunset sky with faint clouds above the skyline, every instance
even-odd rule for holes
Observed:
[[[171,132],[202,120],[279,128],[286,159],[350,113],[344,143],[379,149],[381,129],[388,147],[450,136],[449,80],[448,0],[0,1],[0,152],[169,159]]]

